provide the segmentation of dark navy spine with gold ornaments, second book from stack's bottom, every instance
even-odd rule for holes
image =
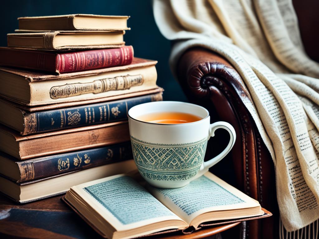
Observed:
[[[132,159],[130,142],[17,162],[25,182]]]

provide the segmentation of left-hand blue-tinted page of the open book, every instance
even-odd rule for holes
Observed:
[[[102,178],[73,188],[117,231],[167,220],[173,212],[127,175]]]

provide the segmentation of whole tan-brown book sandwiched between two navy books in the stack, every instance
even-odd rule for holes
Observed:
[[[89,117],[89,116],[88,116]],[[127,121],[21,136],[0,125],[0,151],[25,160],[130,141]]]

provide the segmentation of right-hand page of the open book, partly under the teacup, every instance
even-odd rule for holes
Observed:
[[[188,224],[198,215],[259,206],[259,203],[210,172],[175,189],[150,187],[150,192]]]

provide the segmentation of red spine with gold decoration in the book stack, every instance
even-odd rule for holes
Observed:
[[[132,62],[133,55],[132,46],[62,53],[56,55],[56,70],[66,73],[124,66]]]

